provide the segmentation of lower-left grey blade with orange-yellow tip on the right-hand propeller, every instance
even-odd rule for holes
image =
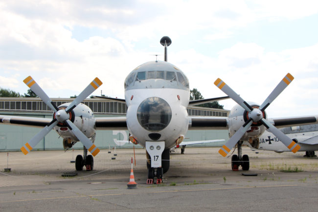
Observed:
[[[227,156],[227,154],[231,151],[233,146],[239,141],[242,136],[248,131],[250,128],[250,125],[252,125],[253,121],[252,119],[249,119],[245,122],[243,126],[240,127],[238,131],[222,146],[222,148],[219,150],[220,155],[223,157]]]

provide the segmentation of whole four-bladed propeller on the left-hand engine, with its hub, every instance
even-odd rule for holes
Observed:
[[[91,152],[93,156],[97,155],[100,151],[95,144],[87,138],[84,133],[78,129],[78,127],[70,120],[72,110],[81,103],[85,98],[87,98],[91,93],[93,93],[99,86],[103,83],[96,77],[83,91],[79,94],[74,101],[72,101],[66,109],[59,109],[54,102],[45,94],[41,87],[35,82],[35,80],[28,76],[23,82],[35,93],[37,94],[46,105],[48,105],[54,111],[53,120],[48,123],[38,134],[36,134],[29,142],[26,142],[21,151],[26,155],[31,151],[36,144],[38,144],[58,123],[65,124],[68,126],[69,130],[76,136],[76,138],[83,143],[83,145]]]

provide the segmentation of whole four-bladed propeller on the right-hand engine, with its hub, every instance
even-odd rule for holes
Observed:
[[[226,142],[219,150],[219,153],[225,157],[230,152],[237,141],[239,141],[250,126],[254,124],[264,125],[271,131],[281,142],[283,142],[292,152],[296,153],[300,146],[292,139],[288,138],[284,133],[273,126],[265,117],[265,109],[273,102],[273,100],[293,81],[294,77],[288,73],[276,86],[273,92],[265,99],[259,107],[251,107],[244,99],[236,94],[224,81],[218,78],[214,84],[225,94],[231,97],[237,104],[246,110],[247,120],[240,129]]]

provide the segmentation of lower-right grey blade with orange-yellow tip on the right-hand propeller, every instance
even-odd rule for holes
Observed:
[[[296,153],[299,149],[300,146],[296,144],[295,141],[287,137],[282,131],[277,129],[276,127],[273,126],[268,120],[265,118],[261,119],[261,122],[264,124],[264,126],[271,131],[282,143],[285,144],[292,152]]]

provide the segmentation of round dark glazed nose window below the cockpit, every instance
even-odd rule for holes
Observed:
[[[145,99],[137,109],[138,122],[148,131],[163,130],[170,123],[171,117],[169,104],[159,97]]]

